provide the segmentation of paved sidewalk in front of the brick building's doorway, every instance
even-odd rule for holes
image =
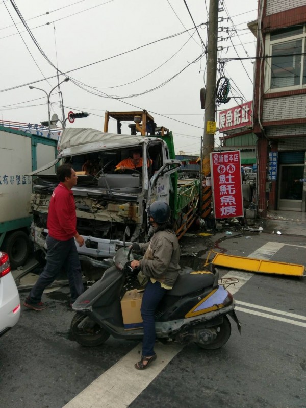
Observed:
[[[306,212],[301,211],[268,211],[263,222],[266,233],[302,235],[306,237]]]

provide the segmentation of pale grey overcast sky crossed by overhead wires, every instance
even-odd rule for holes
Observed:
[[[46,95],[29,89],[29,85],[49,93],[57,85],[58,68],[71,78],[60,87],[66,116],[70,110],[90,113],[73,125],[67,122],[67,126],[103,130],[106,110],[146,109],[158,126],[173,131],[176,153],[199,153],[204,115],[199,93],[206,80],[201,41],[207,44],[209,0],[186,0],[195,25],[202,24],[198,33],[184,0],[13,3],[33,38],[12,2],[0,0],[0,119],[33,124],[47,121]],[[225,0],[220,5],[224,9],[219,12],[219,20],[224,18],[219,22],[223,41],[220,38],[218,46],[223,50],[218,57],[255,56],[256,38],[247,22],[256,19],[257,5],[257,0]],[[241,98],[252,100],[253,66],[251,60],[225,64],[225,76],[231,80],[230,96],[236,101],[232,98],[218,109],[236,106]],[[63,79],[60,74],[60,81]],[[57,89],[50,101],[51,115],[61,118]],[[126,125],[122,130],[129,133]],[[114,121],[109,131],[116,132]]]

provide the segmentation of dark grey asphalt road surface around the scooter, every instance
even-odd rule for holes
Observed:
[[[183,255],[181,263],[202,269],[210,248],[248,256],[271,242],[285,244],[270,254],[272,260],[306,265],[304,237],[235,232],[184,237],[182,252],[191,256]],[[220,270],[220,276],[227,273]],[[175,351],[143,391],[120,406],[305,408],[305,293],[306,278],[249,274],[234,294],[242,334],[232,322],[231,338],[221,349],[205,351],[190,344]],[[20,294],[21,300],[26,294]],[[107,370],[116,363],[117,367],[135,347],[141,350],[141,344],[111,337],[94,348],[71,341],[69,325],[74,313],[68,294],[68,288],[62,287],[44,295],[49,306],[39,313],[22,308],[18,325],[0,338],[1,407],[62,408],[74,397],[78,401],[79,393],[99,376],[105,373],[107,378],[111,372]],[[166,355],[172,346],[162,347]],[[154,364],[159,367],[162,362]],[[141,375],[145,377],[153,367]],[[118,373],[122,393],[126,377],[135,371],[131,364],[130,371]],[[103,397],[99,382],[90,390],[97,401]],[[81,406],[119,405],[83,401]]]

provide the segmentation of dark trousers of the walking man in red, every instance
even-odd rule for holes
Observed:
[[[84,292],[81,265],[74,238],[58,241],[47,235],[46,244],[48,249],[46,266],[28,297],[33,303],[39,303],[44,289],[54,282],[64,267],[68,275],[71,301],[74,302]]]

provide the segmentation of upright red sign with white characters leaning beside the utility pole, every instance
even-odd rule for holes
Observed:
[[[210,154],[215,218],[243,217],[240,151]]]

